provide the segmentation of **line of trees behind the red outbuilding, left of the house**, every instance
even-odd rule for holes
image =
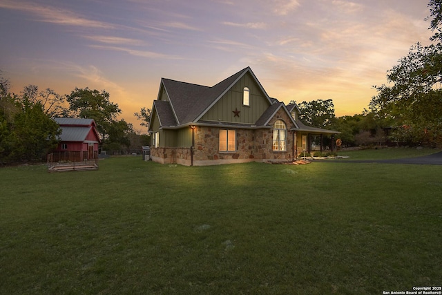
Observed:
[[[143,112],[146,110],[142,108],[134,115],[143,120]],[[86,87],[59,95],[50,88],[39,91],[29,85],[15,94],[10,92],[9,80],[0,75],[0,163],[44,159],[57,146],[61,134],[52,120],[55,117],[94,119],[102,150],[125,152],[148,144],[147,135],[137,134],[132,124],[117,119],[121,113],[106,91]]]

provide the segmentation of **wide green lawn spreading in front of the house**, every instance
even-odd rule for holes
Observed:
[[[441,285],[442,166],[99,164],[0,169],[0,294]]]

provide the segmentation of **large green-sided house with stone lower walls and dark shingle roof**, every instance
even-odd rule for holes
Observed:
[[[269,97],[249,67],[211,87],[162,78],[148,129],[151,159],[188,166],[287,162],[309,152],[313,136],[322,142],[338,133],[305,126],[299,113],[296,104]]]

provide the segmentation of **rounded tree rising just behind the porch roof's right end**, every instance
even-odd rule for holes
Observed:
[[[332,99],[317,99],[311,102],[301,102],[300,120],[305,124],[316,128],[327,128],[335,120],[334,104]]]

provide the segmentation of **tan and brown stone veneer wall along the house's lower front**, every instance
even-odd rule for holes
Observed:
[[[220,152],[220,128],[197,126],[195,129],[195,148],[193,152],[193,165],[230,164],[241,162],[286,162],[296,158],[294,155],[292,126],[287,113],[282,109],[273,116],[269,126],[276,120],[283,120],[287,125],[287,151],[273,151],[273,129],[237,129],[236,151]],[[225,128],[222,128],[225,129]],[[296,134],[295,134],[296,139]],[[151,148],[151,158],[154,162],[162,164],[191,165],[190,148]]]

